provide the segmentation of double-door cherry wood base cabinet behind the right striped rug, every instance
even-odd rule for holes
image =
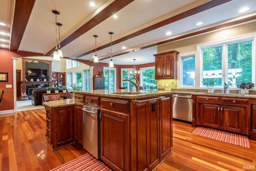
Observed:
[[[250,100],[197,96],[196,124],[250,135]]]

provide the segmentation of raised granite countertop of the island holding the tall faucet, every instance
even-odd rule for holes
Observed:
[[[111,89],[111,90],[78,90],[72,91],[77,94],[102,96],[102,97],[116,97],[116,98],[146,98],[151,96],[164,96],[165,94],[172,94],[174,91],[164,91],[164,90],[140,90],[140,92],[129,92],[126,89]]]

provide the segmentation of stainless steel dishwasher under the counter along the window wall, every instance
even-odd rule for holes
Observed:
[[[172,94],[172,118],[192,121],[192,95]]]

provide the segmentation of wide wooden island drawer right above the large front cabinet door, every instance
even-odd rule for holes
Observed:
[[[101,98],[101,108],[107,108],[118,112],[129,113],[129,101],[116,100],[111,98]]]

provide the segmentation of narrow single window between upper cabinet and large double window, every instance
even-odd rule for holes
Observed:
[[[182,85],[195,85],[195,56],[182,57]]]

